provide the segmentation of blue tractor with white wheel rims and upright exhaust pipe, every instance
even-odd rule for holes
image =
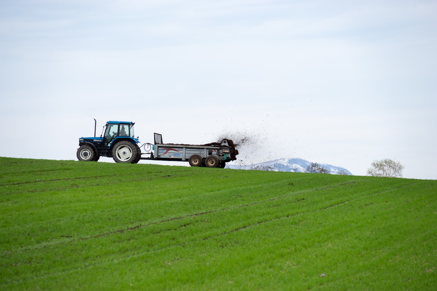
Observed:
[[[108,121],[100,137],[81,137],[77,159],[97,162],[101,156],[106,156],[113,158],[116,163],[138,163],[141,149],[138,137],[134,136],[134,124],[129,121]],[[97,121],[94,124],[94,135],[96,125]]]

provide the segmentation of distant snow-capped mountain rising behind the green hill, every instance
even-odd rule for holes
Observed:
[[[241,170],[269,170],[275,172],[299,172],[305,173],[305,169],[311,162],[306,159],[291,158],[291,159],[274,159],[273,161],[267,161],[263,163],[257,163],[252,165],[229,165],[226,164],[226,169],[241,169]],[[348,170],[343,167],[333,166],[329,164],[321,164],[320,166],[325,168],[331,174],[346,173],[352,175]]]

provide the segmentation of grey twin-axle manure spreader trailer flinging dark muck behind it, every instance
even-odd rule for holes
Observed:
[[[207,166],[210,168],[224,168],[227,162],[236,160],[238,150],[230,139],[222,142],[213,142],[206,145],[166,144],[162,141],[162,135],[154,133],[155,144],[145,144],[146,153],[150,157],[141,159],[161,161],[182,161],[190,163],[190,166]],[[149,145],[149,148],[146,148]]]

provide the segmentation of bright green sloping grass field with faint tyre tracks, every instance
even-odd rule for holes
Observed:
[[[437,288],[437,180],[0,166],[0,290]]]

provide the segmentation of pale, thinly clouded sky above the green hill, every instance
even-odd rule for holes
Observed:
[[[0,156],[75,160],[95,118],[437,179],[436,28],[431,0],[2,0]]]

